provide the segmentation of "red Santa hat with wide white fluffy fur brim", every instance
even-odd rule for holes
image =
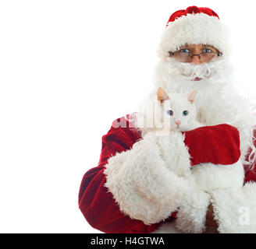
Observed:
[[[169,51],[176,51],[185,44],[211,45],[226,56],[229,52],[228,30],[212,9],[190,6],[170,16],[158,47],[158,55],[165,59]]]

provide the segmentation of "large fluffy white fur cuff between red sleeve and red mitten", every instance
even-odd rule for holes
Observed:
[[[176,211],[191,189],[189,181],[172,171],[179,167],[190,170],[190,155],[183,140],[180,132],[165,137],[148,132],[132,149],[108,160],[105,187],[121,212],[149,225]]]

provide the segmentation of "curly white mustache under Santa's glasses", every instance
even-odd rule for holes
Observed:
[[[195,78],[208,79],[215,75],[217,72],[225,69],[225,61],[218,60],[202,64],[193,64],[176,61],[175,59],[168,58],[168,71],[171,74],[183,75],[188,80]]]

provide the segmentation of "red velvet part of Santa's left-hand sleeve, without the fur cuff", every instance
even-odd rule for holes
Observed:
[[[111,156],[130,149],[140,139],[133,128],[118,125],[123,120],[113,122],[108,134],[102,137],[101,156],[98,167],[88,170],[80,184],[79,208],[87,222],[103,233],[151,233],[159,224],[145,225],[141,220],[130,219],[120,211],[115,199],[105,187],[105,164]],[[172,219],[170,217],[169,219]]]

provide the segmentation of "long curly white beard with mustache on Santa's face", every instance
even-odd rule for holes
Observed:
[[[200,81],[193,81],[196,77]],[[197,121],[204,125],[233,125],[240,132],[241,160],[244,164],[248,149],[253,146],[255,114],[250,101],[233,83],[232,69],[226,60],[204,65],[159,61],[156,67],[154,89],[149,98],[155,99],[158,87],[168,93],[189,93],[197,89],[195,104]],[[251,153],[251,155],[252,155]]]

